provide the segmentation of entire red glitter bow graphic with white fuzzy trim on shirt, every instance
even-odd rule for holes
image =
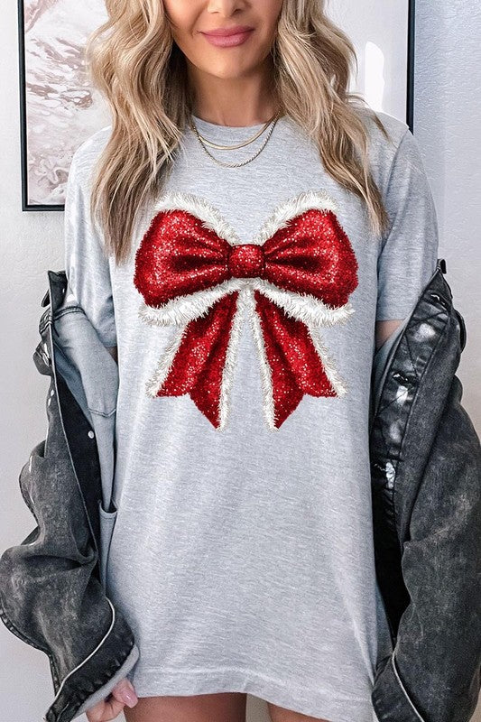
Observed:
[[[278,206],[252,243],[240,243],[205,199],[162,196],[135,255],[134,284],[145,322],[181,329],[147,393],[189,393],[223,429],[244,311],[269,429],[279,429],[305,393],[344,395],[316,329],[344,323],[354,312],[348,297],[357,285],[356,255],[335,209],[325,191],[306,191]]]

